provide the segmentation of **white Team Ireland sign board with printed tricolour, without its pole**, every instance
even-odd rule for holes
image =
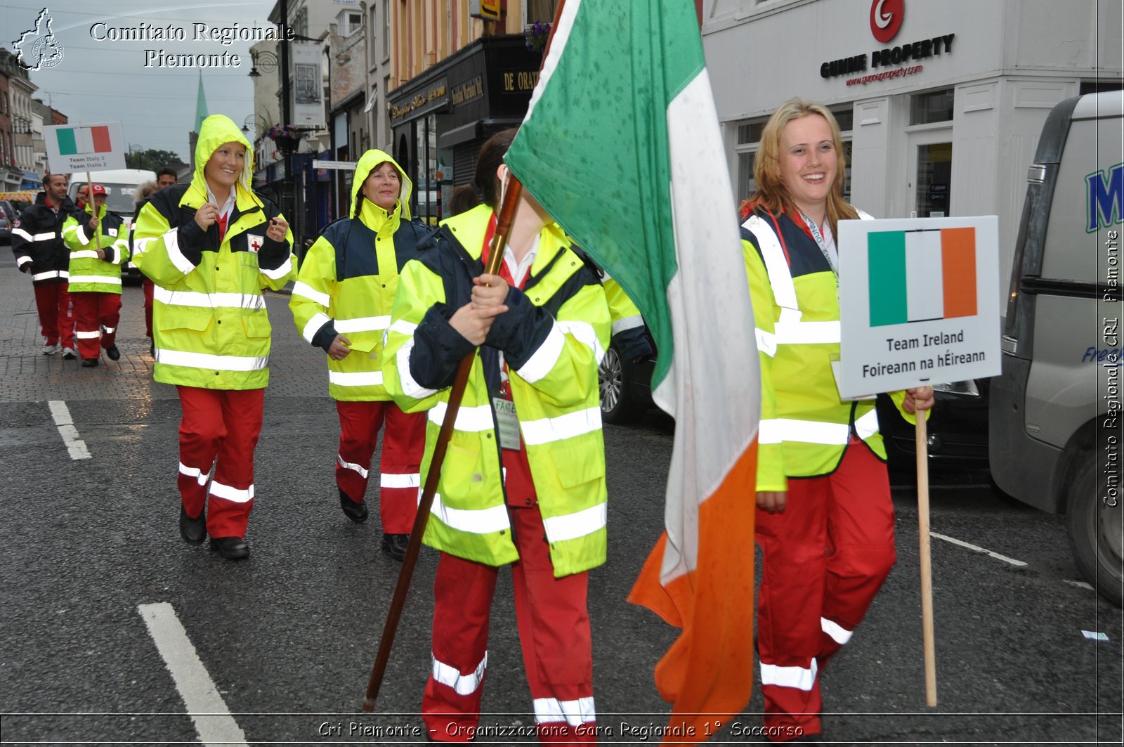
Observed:
[[[841,220],[840,394],[999,374],[999,220]]]

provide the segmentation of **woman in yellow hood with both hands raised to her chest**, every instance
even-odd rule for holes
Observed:
[[[136,263],[156,284],[154,378],[175,385],[180,534],[224,558],[250,556],[254,448],[269,384],[262,288],[294,274],[292,234],[251,189],[253,148],[228,117],[207,117],[189,184],[153,195],[134,232]],[[214,470],[214,475],[211,471]]]

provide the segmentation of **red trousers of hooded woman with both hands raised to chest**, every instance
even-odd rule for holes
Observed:
[[[183,410],[178,480],[183,508],[196,518],[206,507],[211,537],[245,537],[265,389],[176,389]]]

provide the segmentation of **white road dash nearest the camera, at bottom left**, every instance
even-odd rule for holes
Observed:
[[[188,708],[188,716],[196,724],[199,739],[205,745],[245,745],[246,735],[230,716],[223,696],[199,660],[188,632],[167,602],[138,604],[137,612],[148,626],[148,634],[156,650],[172,673],[175,688]]]

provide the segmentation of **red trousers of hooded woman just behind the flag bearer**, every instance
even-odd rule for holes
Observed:
[[[336,485],[355,503],[366,494],[371,456],[383,421],[379,464],[379,516],[387,534],[409,534],[417,514],[418,470],[425,452],[425,413],[404,413],[392,402],[336,402],[339,453]]]

